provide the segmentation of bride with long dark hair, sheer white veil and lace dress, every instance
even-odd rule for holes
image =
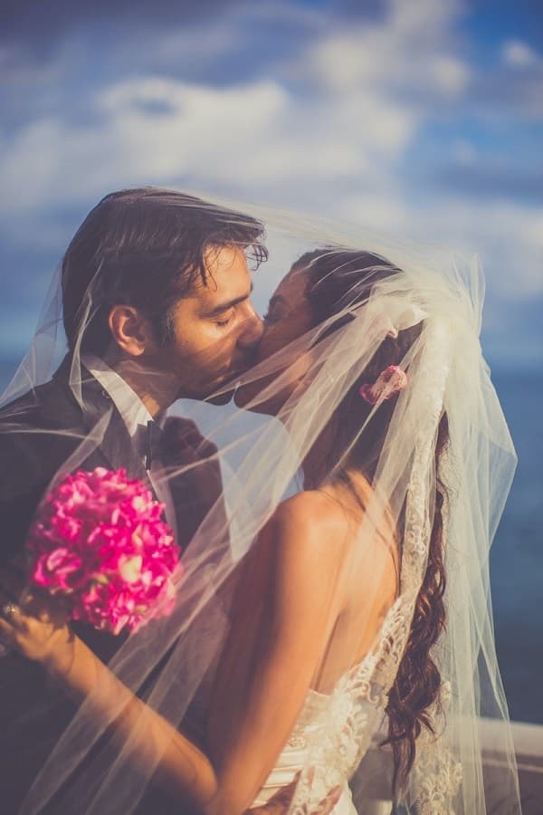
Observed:
[[[503,720],[500,811],[520,811],[488,599],[514,453],[481,357],[481,281],[353,245],[326,235],[294,261],[243,410],[210,420],[228,534],[212,509],[171,617],[109,666],[29,590],[0,618],[79,705],[23,812],[72,773],[78,812],[134,811],[151,782],[178,811],[364,812],[373,737],[391,802],[484,813],[480,715]],[[15,594],[4,579],[0,600]]]

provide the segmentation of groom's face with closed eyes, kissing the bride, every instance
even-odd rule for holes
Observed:
[[[149,367],[171,373],[178,384],[177,398],[205,399],[216,390],[215,403],[228,401],[225,386],[252,363],[262,336],[262,321],[252,308],[252,282],[242,249],[209,249],[208,272],[192,292],[176,303],[174,339],[146,354]]]

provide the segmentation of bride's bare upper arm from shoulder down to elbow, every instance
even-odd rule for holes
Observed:
[[[209,746],[223,807],[217,811],[243,811],[261,790],[338,617],[346,528],[330,504],[314,493],[281,504],[239,583],[211,705]]]

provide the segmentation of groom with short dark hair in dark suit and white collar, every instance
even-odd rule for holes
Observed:
[[[160,477],[214,452],[166,411],[177,398],[228,400],[249,366],[262,323],[248,253],[266,257],[258,221],[181,193],[125,190],[90,212],[62,261],[68,353],[50,381],[0,410],[3,565],[17,564],[52,479],[96,466],[144,480],[177,542],[190,541],[221,494],[220,474],[210,462]],[[124,641],[81,624],[77,633],[105,661]],[[0,705],[0,809],[12,815],[73,711],[13,654],[0,660]],[[138,812],[167,806],[156,791]]]

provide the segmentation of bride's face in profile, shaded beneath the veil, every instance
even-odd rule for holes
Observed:
[[[274,391],[269,398],[256,399],[258,404],[249,405],[248,408],[255,413],[277,415],[307,372],[310,364],[307,353],[301,353],[295,360],[289,360],[286,367],[273,366],[270,374],[265,372],[266,360],[313,328],[314,320],[306,298],[306,288],[306,270],[294,266],[271,296],[268,311],[263,318],[262,339],[254,355],[255,366],[262,364],[262,377],[252,379],[249,371],[246,381],[242,380],[242,384],[235,392],[234,401],[238,407],[246,407],[264,388],[281,376],[281,388],[277,392]]]

